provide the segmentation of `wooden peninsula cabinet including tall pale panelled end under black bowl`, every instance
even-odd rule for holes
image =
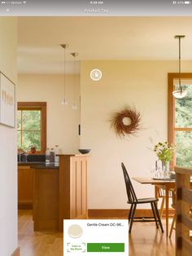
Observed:
[[[89,156],[59,155],[58,169],[35,169],[33,221],[35,231],[63,231],[63,219],[87,218]]]

